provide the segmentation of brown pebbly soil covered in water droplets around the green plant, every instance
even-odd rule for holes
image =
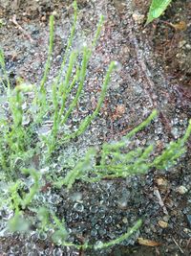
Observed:
[[[179,138],[191,118],[191,15],[190,1],[174,1],[160,21],[146,28],[149,1],[79,0],[79,21],[74,47],[89,42],[100,14],[106,23],[90,62],[81,106],[69,128],[76,126],[95,107],[105,70],[111,60],[120,68],[112,78],[99,118],[76,142],[63,151],[63,158],[83,154],[89,146],[101,145],[126,134],[144,120],[152,109],[159,118],[138,133],[130,147],[165,144]],[[22,77],[40,80],[47,58],[48,20],[56,16],[54,58],[50,81],[55,76],[66,47],[73,19],[72,1],[1,1],[0,44],[5,52],[11,84]],[[162,22],[163,21],[163,22]],[[180,23],[184,22],[184,23]],[[170,24],[170,25],[169,25]],[[175,27],[175,25],[182,25]],[[184,26],[185,25],[185,26]],[[88,139],[87,139],[88,138]],[[58,247],[35,233],[12,237],[4,234],[1,212],[0,255],[189,255],[191,250],[191,159],[188,152],[168,171],[151,170],[148,175],[125,180],[103,180],[95,184],[76,183],[70,194],[48,189],[45,199],[64,217],[71,242],[106,242],[126,232],[139,218],[143,225],[133,237],[102,251],[76,251]],[[62,159],[54,159],[58,170]],[[41,168],[39,166],[39,168]],[[40,200],[40,198],[39,198]],[[163,206],[161,206],[163,202]],[[159,243],[138,244],[138,238]]]

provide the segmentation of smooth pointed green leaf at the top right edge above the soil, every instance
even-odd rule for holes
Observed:
[[[158,18],[168,7],[172,0],[153,0],[149,9],[146,25]]]

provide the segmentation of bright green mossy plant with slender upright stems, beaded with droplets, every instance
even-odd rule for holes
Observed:
[[[90,47],[84,45],[82,49],[71,50],[74,41],[74,33],[77,21],[77,6],[74,2],[74,24],[65,51],[60,70],[51,85],[47,85],[49,71],[51,69],[53,54],[53,15],[50,17],[50,46],[45,72],[40,86],[25,84],[18,80],[16,86],[11,88],[11,81],[6,72],[6,64],[3,51],[0,51],[1,83],[3,93],[6,94],[9,108],[0,117],[0,170],[1,170],[1,209],[10,209],[12,218],[7,226],[11,232],[27,232],[31,222],[36,223],[37,232],[49,232],[52,230],[52,239],[56,244],[74,246],[76,248],[105,248],[127,240],[133,232],[138,230],[141,221],[137,223],[121,237],[101,244],[73,244],[67,241],[68,231],[64,220],[59,220],[56,213],[50,210],[45,202],[41,206],[36,203],[36,198],[41,194],[45,179],[48,179],[54,189],[63,186],[71,189],[76,179],[84,182],[96,182],[102,178],[126,177],[128,175],[145,174],[149,169],[169,168],[176,164],[177,159],[185,151],[185,143],[191,133],[191,122],[185,135],[176,142],[170,143],[167,148],[152,160],[150,155],[154,151],[151,145],[145,149],[127,151],[127,142],[134,139],[139,130],[147,127],[157,116],[157,110],[138,127],[132,129],[126,136],[115,143],[104,143],[100,151],[89,149],[84,157],[76,161],[74,168],[63,175],[44,175],[32,166],[32,159],[38,155],[49,165],[53,154],[59,153],[70,140],[80,136],[96,119],[103,105],[111,74],[116,69],[116,62],[112,61],[108,67],[102,84],[96,109],[88,115],[79,127],[70,134],[64,133],[63,128],[74,111],[80,95],[83,91],[86,72],[96,41],[103,26],[103,17],[97,26],[96,35]],[[77,61],[81,58],[81,62]],[[66,68],[67,67],[67,68]],[[66,70],[63,78],[63,72]],[[51,86],[51,90],[47,89]],[[74,86],[77,86],[74,98],[69,101]],[[24,103],[28,103],[23,107]],[[43,128],[47,119],[51,121],[49,133],[42,135],[36,132]],[[30,120],[25,123],[25,120]],[[100,158],[99,165],[96,157]],[[70,162],[70,159],[68,159]],[[29,182],[30,180],[30,182]],[[29,184],[30,183],[30,184]],[[32,214],[29,214],[32,213]]]

